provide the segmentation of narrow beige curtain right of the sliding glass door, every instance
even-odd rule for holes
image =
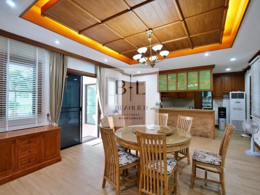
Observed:
[[[99,104],[102,112],[102,117],[105,114],[105,97],[106,97],[106,68],[96,66],[96,82],[98,83],[98,97],[99,97]]]

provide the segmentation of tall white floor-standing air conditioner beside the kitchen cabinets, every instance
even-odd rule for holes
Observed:
[[[246,119],[246,94],[243,91],[230,92],[230,122],[235,131],[243,131]]]

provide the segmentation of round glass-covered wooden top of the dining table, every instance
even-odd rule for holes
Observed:
[[[115,132],[116,142],[121,146],[139,151],[135,131],[141,131],[147,134],[159,134],[157,131],[171,131],[172,134],[166,136],[167,152],[178,152],[189,147],[191,135],[180,128],[172,126],[154,125],[153,130],[146,128],[146,125],[132,125],[117,129]]]

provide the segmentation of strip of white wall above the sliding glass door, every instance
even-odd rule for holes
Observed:
[[[74,69],[77,71],[95,74],[95,64],[88,63],[86,61],[76,59],[73,57],[69,57],[68,59],[68,69]]]

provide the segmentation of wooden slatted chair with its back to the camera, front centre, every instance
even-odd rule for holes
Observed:
[[[167,158],[166,135],[152,135],[136,131],[140,149],[139,195],[177,193],[177,161]],[[172,185],[169,179],[174,175]]]

